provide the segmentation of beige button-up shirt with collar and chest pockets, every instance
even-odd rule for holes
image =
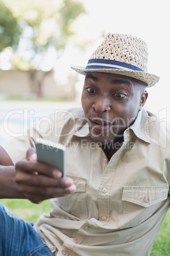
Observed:
[[[150,255],[169,208],[170,132],[142,110],[108,162],[81,108],[57,111],[4,149],[15,163],[38,137],[67,146],[75,194],[51,199],[36,231],[55,255]]]

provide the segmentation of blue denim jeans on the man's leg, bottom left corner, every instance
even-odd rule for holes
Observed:
[[[0,203],[0,255],[1,256],[54,256],[33,224],[16,217]]]

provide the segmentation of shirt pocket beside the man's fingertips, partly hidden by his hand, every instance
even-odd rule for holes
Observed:
[[[74,217],[84,220],[88,217],[88,207],[86,203],[86,179],[73,175],[66,176],[72,178],[76,186],[76,190],[74,194],[58,197],[58,206]]]

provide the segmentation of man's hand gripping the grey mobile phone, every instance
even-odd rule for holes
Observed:
[[[33,203],[75,192],[71,178],[62,178],[62,173],[55,167],[37,162],[35,148],[27,151],[27,159],[17,162],[15,169],[15,181],[20,192]]]

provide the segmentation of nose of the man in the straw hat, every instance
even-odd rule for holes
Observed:
[[[99,97],[92,107],[97,113],[110,112],[110,101],[106,97]]]

